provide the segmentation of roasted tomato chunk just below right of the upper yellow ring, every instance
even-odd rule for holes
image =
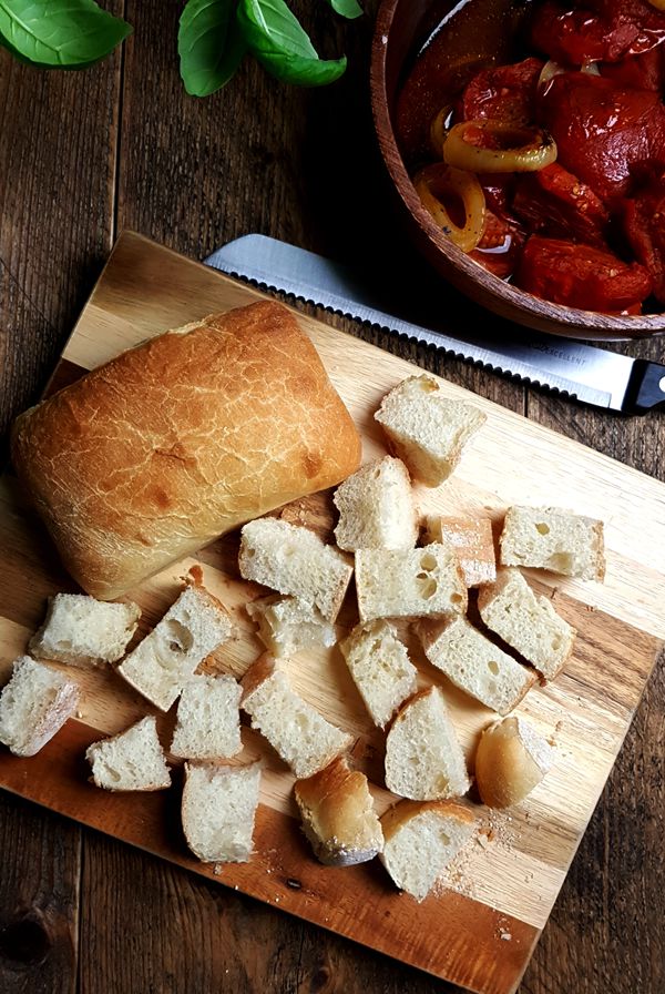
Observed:
[[[556,162],[518,178],[512,209],[530,231],[605,246],[607,209],[586,183]]]

